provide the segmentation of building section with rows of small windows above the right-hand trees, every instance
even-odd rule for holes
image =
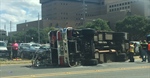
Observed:
[[[123,20],[128,15],[140,15],[150,18],[150,0],[113,1],[107,4],[107,14],[100,16],[100,18],[110,22],[111,28],[113,30],[115,30],[116,22],[118,20]]]

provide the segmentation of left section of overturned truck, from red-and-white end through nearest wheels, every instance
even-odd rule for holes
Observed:
[[[63,28],[49,32],[52,64],[59,66],[97,65],[93,29]]]

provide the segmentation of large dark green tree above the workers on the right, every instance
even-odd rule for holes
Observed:
[[[138,40],[146,36],[150,22],[142,16],[127,16],[116,23],[117,32],[128,32],[132,40]]]

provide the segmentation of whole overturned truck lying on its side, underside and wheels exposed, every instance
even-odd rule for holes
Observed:
[[[78,66],[97,65],[109,61],[127,59],[127,33],[97,32],[94,29],[67,27],[48,33],[50,50],[48,58],[33,58],[34,66]]]

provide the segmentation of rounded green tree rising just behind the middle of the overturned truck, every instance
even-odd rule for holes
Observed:
[[[86,24],[85,28],[93,28],[95,30],[102,30],[102,31],[111,31],[107,21],[102,19],[96,19],[95,21],[89,22]]]

